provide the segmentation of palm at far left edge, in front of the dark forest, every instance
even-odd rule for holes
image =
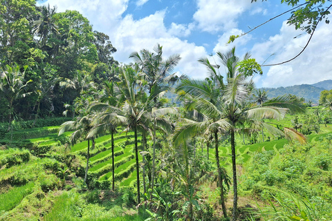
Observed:
[[[12,66],[6,65],[5,70],[0,70],[0,93],[9,103],[8,131],[10,131],[11,128],[12,115],[14,114],[12,106],[15,100],[31,94],[31,92],[26,92],[26,88],[28,83],[30,83],[32,80],[26,81],[26,83],[24,83],[24,74],[26,72],[26,68],[28,68],[28,66],[24,66],[24,71],[21,72],[19,66],[14,64]]]

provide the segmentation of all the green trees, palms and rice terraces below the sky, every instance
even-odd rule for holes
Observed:
[[[331,90],[270,96],[235,48],[118,64],[80,12],[0,1],[0,220],[332,220]]]

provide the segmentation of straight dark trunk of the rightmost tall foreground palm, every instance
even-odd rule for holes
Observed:
[[[232,148],[232,171],[233,171],[233,192],[234,192],[232,220],[236,221],[237,220],[237,162],[236,162],[236,153],[235,153],[234,128],[230,129],[230,146]]]

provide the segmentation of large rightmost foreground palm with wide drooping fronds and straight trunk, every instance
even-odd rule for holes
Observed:
[[[252,121],[256,119],[261,121],[263,118],[280,119],[284,117],[286,111],[291,110],[293,112],[303,112],[303,109],[293,104],[291,99],[288,97],[277,97],[270,101],[261,104],[260,106],[252,105],[249,106],[248,102],[252,95],[252,89],[254,85],[252,80],[248,79],[251,77],[248,73],[239,73],[240,59],[234,55],[234,48],[223,55],[218,52],[217,55],[221,59],[221,64],[225,65],[227,83],[223,83],[223,77],[219,74],[216,68],[219,65],[212,65],[208,59],[200,59],[201,64],[204,64],[208,69],[210,79],[214,82],[214,90],[209,89],[203,83],[188,82],[185,85],[180,86],[178,90],[183,90],[185,93],[190,93],[196,98],[196,102],[192,102],[190,106],[196,108],[197,111],[203,113],[205,116],[210,117],[209,119],[217,119],[218,124],[211,124],[209,127],[223,128],[230,132],[230,144],[232,149],[232,171],[233,171],[233,211],[232,220],[237,220],[237,167],[236,167],[236,152],[235,152],[235,140],[234,133],[237,130],[239,124]],[[244,59],[248,59],[250,54],[247,53]],[[212,93],[216,91],[216,93]],[[212,96],[213,95],[213,96]],[[182,137],[179,140],[185,139],[194,134],[193,131],[199,131],[201,128],[207,128],[206,124],[208,121],[188,124],[182,128],[181,133],[178,133],[178,137]],[[275,134],[282,134],[282,131],[277,128],[270,126],[269,124],[262,123],[263,126],[268,128],[269,131]],[[216,132],[214,131],[214,134]],[[290,128],[284,128],[284,135],[304,140],[303,135],[292,131]],[[217,138],[217,137],[216,137]],[[217,139],[215,139],[217,141]],[[218,146],[216,144],[216,153]],[[217,163],[219,160],[217,160]],[[219,175],[220,177],[220,175]]]

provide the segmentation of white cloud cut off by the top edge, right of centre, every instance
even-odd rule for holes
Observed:
[[[237,27],[237,17],[250,8],[248,0],[198,0],[194,20],[206,32],[219,32]]]

